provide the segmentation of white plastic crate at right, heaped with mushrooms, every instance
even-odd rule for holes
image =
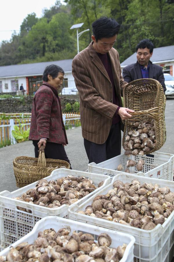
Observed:
[[[119,224],[116,222],[104,220],[102,218],[91,217],[87,215],[79,214],[79,210],[85,210],[86,206],[91,205],[93,199],[100,194],[107,194],[108,190],[113,188],[113,182],[115,180],[121,180],[124,183],[130,183],[136,175],[132,174],[119,174],[113,177],[112,183],[101,189],[97,194],[94,194],[90,199],[81,203],[81,205],[74,205],[69,207],[69,219],[73,219],[79,222],[84,222],[88,224],[93,224],[96,226],[102,226],[108,229],[119,230],[119,232],[128,233],[135,237],[134,245],[134,256],[135,261],[139,262],[168,262],[169,256],[173,257],[173,244],[174,244],[174,211],[166,219],[166,221],[161,225],[158,224],[152,230],[138,229],[132,226],[127,226]],[[147,182],[152,184],[158,184],[160,187],[168,186],[171,191],[174,192],[174,182],[148,178],[144,176],[138,177],[141,183]],[[171,250],[171,253],[169,253]]]

